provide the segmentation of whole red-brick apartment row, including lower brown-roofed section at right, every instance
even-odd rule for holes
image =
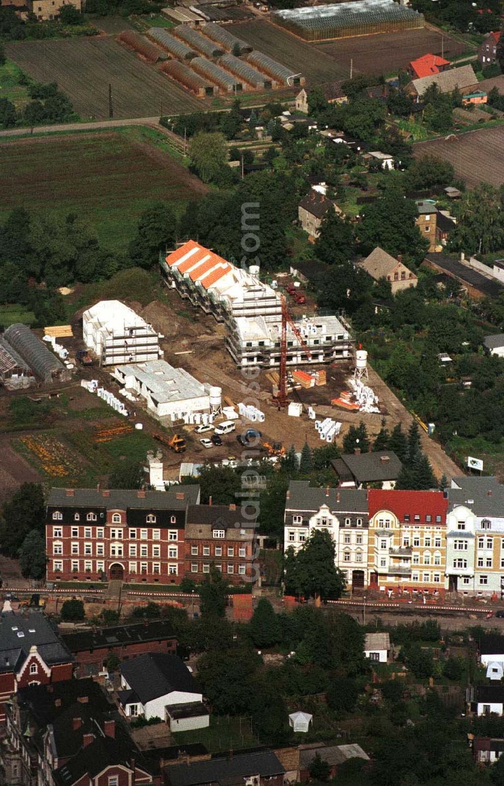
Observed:
[[[254,512],[199,505],[199,486],[166,491],[54,488],[46,513],[48,581],[179,584],[215,567],[253,578]]]

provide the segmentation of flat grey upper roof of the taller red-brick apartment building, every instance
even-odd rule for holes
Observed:
[[[137,490],[111,489],[109,496],[104,497],[104,492],[98,489],[74,489],[69,496],[63,488],[53,488],[49,494],[47,505],[49,507],[97,507],[107,510],[127,509],[178,509],[184,510],[186,506],[196,505],[199,501],[199,486],[187,484],[170,486],[166,491],[145,491],[144,497],[138,497]],[[180,495],[184,494],[183,498]]]

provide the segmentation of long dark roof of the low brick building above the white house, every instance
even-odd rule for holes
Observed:
[[[142,641],[163,641],[174,637],[173,626],[167,619],[155,619],[137,625],[80,630],[79,633],[64,634],[61,638],[70,652],[86,652],[89,649],[137,644]]]

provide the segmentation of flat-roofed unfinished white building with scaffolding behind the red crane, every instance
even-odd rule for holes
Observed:
[[[317,365],[343,360],[352,355],[349,330],[334,317],[303,317],[294,320],[302,337],[287,323],[287,365]],[[236,365],[280,365],[282,323],[264,317],[238,318],[232,322],[226,345]]]

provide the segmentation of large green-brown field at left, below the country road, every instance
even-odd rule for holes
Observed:
[[[162,134],[141,127],[1,141],[0,219],[20,206],[54,215],[75,211],[105,247],[121,251],[153,201],[173,202],[181,211],[206,193],[169,150]]]

